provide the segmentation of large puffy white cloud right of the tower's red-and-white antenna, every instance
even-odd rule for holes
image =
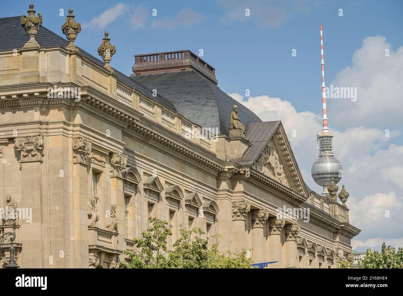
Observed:
[[[385,56],[385,50],[389,56]],[[339,127],[364,125],[385,129],[403,126],[403,46],[396,51],[386,38],[370,36],[363,40],[347,66],[331,82],[337,87],[357,87],[357,101],[330,99],[332,123]]]

